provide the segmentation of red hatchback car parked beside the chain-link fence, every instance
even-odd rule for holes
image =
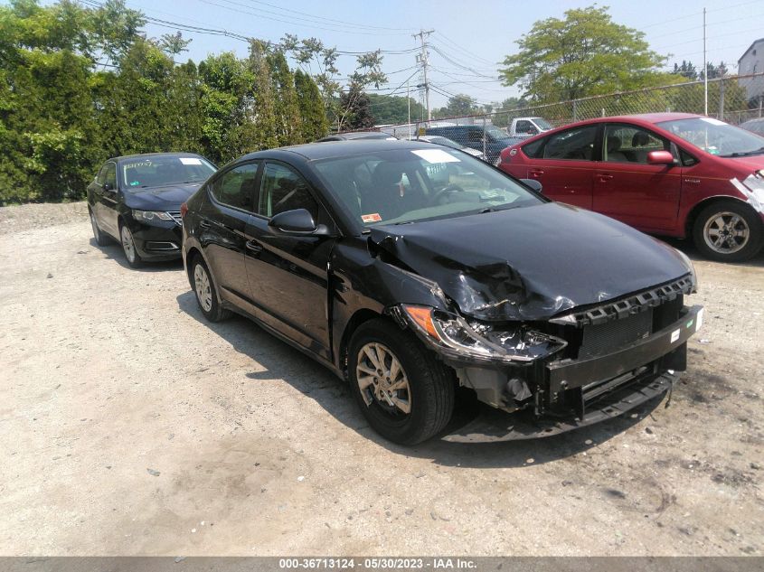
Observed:
[[[499,168],[708,258],[755,256],[764,240],[764,137],[687,113],[601,117],[501,153]]]

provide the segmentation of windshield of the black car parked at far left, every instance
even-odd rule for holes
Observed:
[[[139,157],[122,164],[128,189],[162,187],[168,184],[203,183],[216,171],[202,157],[157,155]]]

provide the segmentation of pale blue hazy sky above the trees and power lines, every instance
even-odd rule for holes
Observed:
[[[485,0],[126,0],[127,5],[149,17],[239,33],[278,42],[285,33],[299,38],[316,37],[326,46],[343,52],[384,53],[382,70],[388,83],[378,93],[410,95],[421,83],[416,68],[420,45],[412,33],[434,30],[429,35],[430,105],[446,104],[449,94],[465,93],[484,104],[520,95],[514,87],[498,80],[497,69],[515,43],[533,23],[549,17],[564,17],[573,7],[591,1],[536,2]],[[724,61],[737,71],[737,61],[750,43],[764,37],[764,0],[728,0],[730,4],[707,5],[708,61]],[[50,1],[45,4],[51,4]],[[601,4],[600,4],[601,5]],[[690,60],[703,67],[703,3],[697,0],[613,0],[609,13],[616,23],[644,32],[650,48],[670,55],[674,61]],[[174,33],[172,27],[146,25],[146,33],[159,37]],[[246,42],[229,37],[184,32],[192,38],[189,51],[177,60],[203,60],[209,53],[247,53]],[[410,52],[409,52],[410,51]],[[405,52],[405,53],[389,53]],[[355,67],[353,55],[342,55],[337,63],[341,76]]]

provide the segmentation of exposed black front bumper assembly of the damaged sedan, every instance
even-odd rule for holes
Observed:
[[[702,306],[684,306],[673,324],[588,359],[534,362],[522,368],[451,363],[461,385],[501,411],[476,419],[448,440],[551,436],[617,417],[672,386],[674,371],[686,369],[686,342],[702,323]]]

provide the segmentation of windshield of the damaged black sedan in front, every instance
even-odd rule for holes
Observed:
[[[543,202],[504,173],[446,147],[325,159],[316,170],[345,211],[366,227]]]

